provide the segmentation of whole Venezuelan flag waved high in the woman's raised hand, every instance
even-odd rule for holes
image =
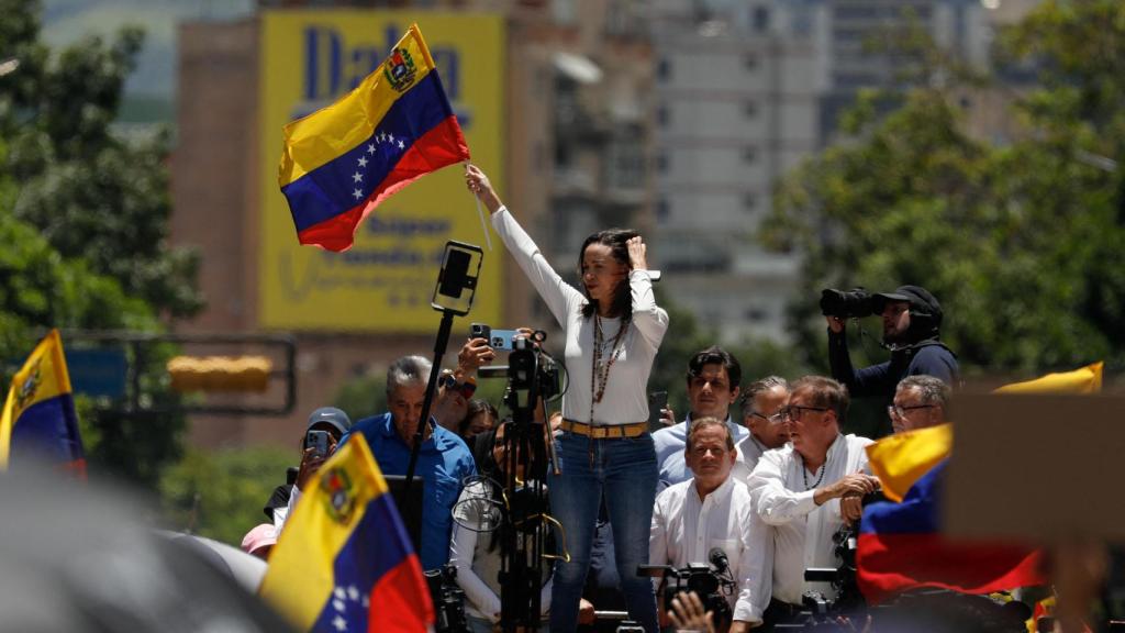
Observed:
[[[468,159],[433,57],[412,25],[354,90],[285,126],[278,184],[300,243],[342,251],[379,203]]]

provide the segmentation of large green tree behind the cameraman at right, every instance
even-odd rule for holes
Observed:
[[[849,139],[783,180],[763,233],[803,253],[791,318],[807,362],[826,364],[821,288],[906,283],[942,301],[970,372],[1122,356],[1122,175],[1096,157],[1125,159],[1123,36],[1112,1],[1048,1],[1006,34],[1006,61],[1033,60],[1043,81],[1015,99],[1022,132],[1004,144],[966,132],[956,81],[918,84],[885,116],[861,97]]]

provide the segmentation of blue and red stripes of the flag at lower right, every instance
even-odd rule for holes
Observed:
[[[915,587],[988,594],[1042,585],[1038,552],[1010,543],[950,543],[940,534],[940,462],[901,503],[864,508],[856,545],[860,591],[868,603]]]

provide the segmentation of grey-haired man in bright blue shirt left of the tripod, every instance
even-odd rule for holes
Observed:
[[[421,356],[404,356],[387,369],[387,403],[390,411],[356,422],[341,443],[361,433],[384,474],[405,475],[411,446],[422,418],[431,363]],[[435,424],[426,425],[414,475],[424,480],[422,501],[422,569],[449,561],[453,527],[451,510],[466,478],[477,474],[472,454],[461,438]]]

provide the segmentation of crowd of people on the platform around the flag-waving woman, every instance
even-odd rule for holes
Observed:
[[[729,351],[700,350],[684,359],[688,410],[682,420],[662,411],[654,429],[649,373],[668,315],[656,303],[642,239],[621,230],[591,235],[578,253],[575,288],[480,170],[470,166],[466,180],[564,333],[569,387],[560,411],[536,420],[548,425],[551,467],[516,473],[521,481],[546,481],[554,532],[567,554],[541,579],[541,630],[575,631],[595,625],[597,613],[623,609],[654,633],[717,610],[705,596],[660,604],[662,579],[640,576],[641,565],[705,564],[721,572],[728,608],[712,623],[721,631],[791,623],[808,591],[832,599],[834,586],[807,581],[804,571],[837,567],[834,535],[860,518],[862,499],[879,488],[864,451],[872,439],[844,433],[850,398],[884,398],[897,433],[944,421],[957,366],[939,340],[937,300],[917,286],[874,295],[891,358],[860,369],[850,363],[844,320],[828,316],[831,377],[747,380]],[[330,434],[328,449],[304,449],[295,481],[267,505],[270,523],[251,531],[244,547],[268,552],[309,478],[351,435],[364,436],[385,474],[403,474],[421,425],[422,565],[454,565],[468,628],[495,631],[501,544],[495,532],[462,527],[482,524],[474,512],[487,506],[459,503],[496,497],[480,482],[505,481],[504,464],[513,463],[503,451],[514,422],[474,399],[478,369],[495,358],[486,339],[465,341],[456,367],[442,372],[430,420],[421,417],[431,364],[421,356],[399,358],[387,371],[389,411],[354,424],[339,410],[314,412],[308,428]]]

